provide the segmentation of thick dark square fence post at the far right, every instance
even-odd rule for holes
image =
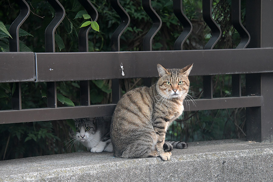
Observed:
[[[273,2],[246,1],[246,27],[251,35],[248,47],[273,47]],[[259,63],[257,63],[259,64]],[[273,141],[273,73],[246,74],[246,92],[262,96],[261,107],[247,108],[247,139]]]

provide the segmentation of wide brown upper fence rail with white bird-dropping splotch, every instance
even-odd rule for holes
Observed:
[[[37,64],[31,52],[3,52],[1,57],[0,82],[157,77],[158,63],[183,68],[194,62],[191,76],[273,72],[273,48],[36,53]]]

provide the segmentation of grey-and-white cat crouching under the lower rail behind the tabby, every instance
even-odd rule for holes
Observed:
[[[76,131],[70,129],[72,143],[81,142],[91,152],[113,152],[110,139],[112,117],[73,119]]]

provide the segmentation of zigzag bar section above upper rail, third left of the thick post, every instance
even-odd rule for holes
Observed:
[[[174,15],[178,18],[181,22],[182,26],[184,27],[183,32],[174,42],[174,50],[183,50],[183,44],[192,32],[192,24],[187,16],[183,12],[182,8],[182,0],[174,0],[173,2],[174,7]]]

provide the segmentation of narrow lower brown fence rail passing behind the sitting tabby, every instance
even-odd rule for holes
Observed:
[[[185,111],[229,109],[261,106],[261,96],[195,99],[184,102]],[[116,104],[91,106],[35,108],[22,110],[0,110],[1,123],[22,123],[30,121],[64,120],[72,118],[112,116]]]

